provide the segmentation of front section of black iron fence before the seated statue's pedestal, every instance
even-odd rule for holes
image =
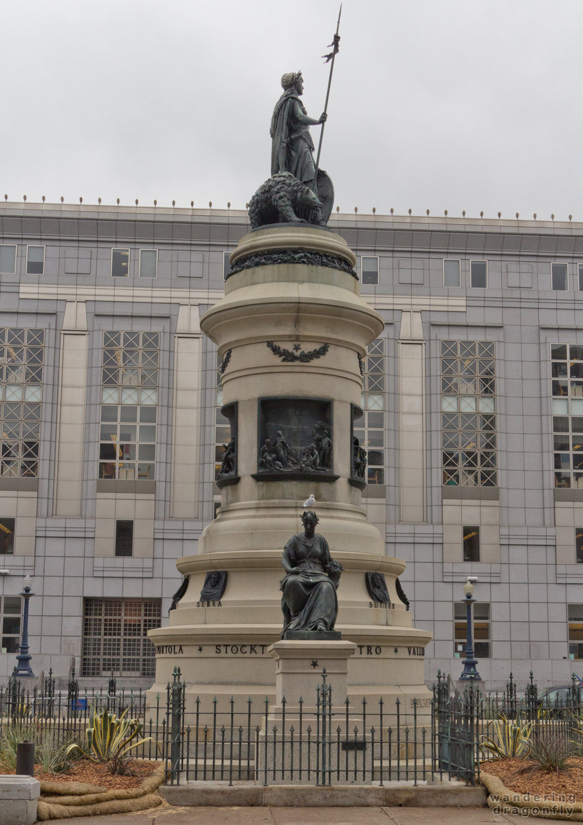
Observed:
[[[324,671],[315,694],[311,704],[300,698],[294,705],[285,699],[272,705],[266,699],[256,707],[251,699],[232,698],[209,705],[196,697],[187,707],[186,686],[175,673],[167,782],[419,785],[454,776],[476,781],[476,711],[468,701],[476,704],[477,691],[453,704],[442,701],[439,713],[443,696],[437,689],[422,707],[416,698],[409,709],[398,699],[388,708],[382,698],[374,705],[363,698],[338,706]]]

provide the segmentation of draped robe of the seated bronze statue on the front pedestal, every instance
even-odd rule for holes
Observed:
[[[293,535],[285,545],[284,561],[302,573],[288,573],[281,582],[282,636],[286,630],[314,630],[320,622],[333,629],[338,599],[334,582],[324,572],[331,562],[327,540],[318,533],[313,539],[303,533]]]

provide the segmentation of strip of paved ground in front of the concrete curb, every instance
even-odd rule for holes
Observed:
[[[156,808],[50,825],[506,825],[524,818],[488,808]]]

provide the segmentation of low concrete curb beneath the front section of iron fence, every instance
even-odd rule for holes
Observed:
[[[251,782],[187,782],[162,785],[159,794],[171,805],[191,807],[267,806],[271,808],[435,808],[486,805],[480,785],[445,781],[436,785],[395,782],[383,785],[255,785]]]

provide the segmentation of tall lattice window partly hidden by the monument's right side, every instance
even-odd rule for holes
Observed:
[[[364,413],[358,419],[354,436],[367,451],[367,483],[384,484],[384,338],[377,338],[369,344],[362,371],[363,392],[360,405]]]

